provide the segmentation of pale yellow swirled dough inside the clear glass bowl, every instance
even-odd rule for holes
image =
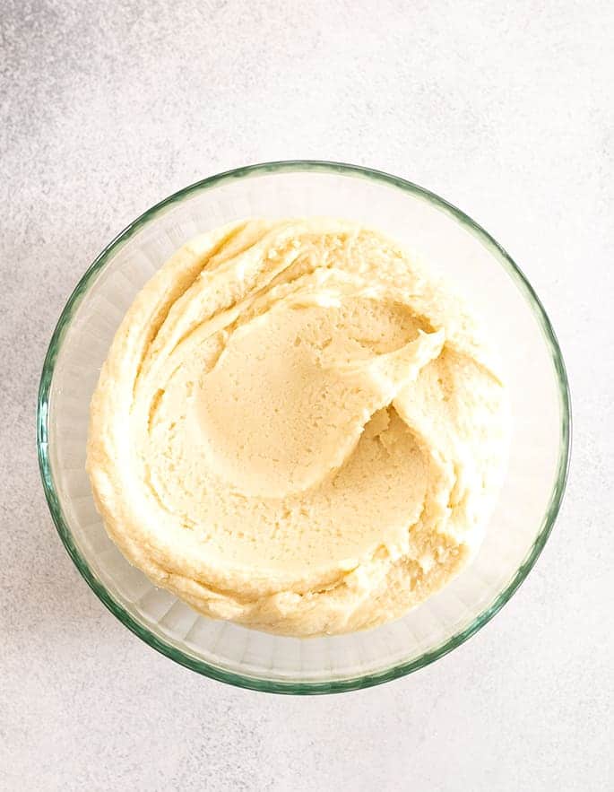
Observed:
[[[328,218],[192,239],[125,316],[91,402],[109,535],[203,614],[372,627],[480,544],[506,398],[475,322],[390,239]]]

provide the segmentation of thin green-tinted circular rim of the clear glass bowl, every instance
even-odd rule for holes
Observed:
[[[49,443],[48,443],[48,414],[49,414],[49,396],[51,384],[53,381],[54,370],[56,366],[56,359],[60,351],[65,333],[70,326],[74,317],[75,310],[79,307],[84,295],[89,291],[91,285],[96,280],[97,275],[102,271],[104,266],[108,263],[111,255],[130,239],[136,231],[143,228],[144,225],[150,223],[165,212],[170,205],[177,204],[183,201],[186,197],[195,195],[196,193],[204,190],[209,190],[212,187],[218,187],[225,182],[234,179],[251,178],[264,174],[280,174],[291,173],[300,171],[322,172],[322,173],[341,173],[342,175],[354,178],[366,178],[376,181],[380,184],[385,184],[388,187],[396,187],[402,191],[411,193],[412,196],[418,196],[421,199],[426,199],[431,205],[435,205],[439,210],[451,215],[456,222],[460,222],[463,227],[470,231],[480,242],[489,248],[500,265],[502,265],[507,274],[509,274],[515,281],[516,287],[523,293],[524,298],[532,308],[532,312],[537,318],[540,325],[542,335],[546,344],[549,346],[549,352],[552,358],[554,369],[558,378],[558,397],[561,411],[561,426],[559,434],[559,448],[558,448],[558,467],[557,476],[550,493],[549,506],[546,509],[541,521],[540,531],[536,536],[532,547],[526,554],[523,562],[515,572],[515,576],[510,580],[506,587],[500,591],[490,605],[485,608],[478,616],[473,619],[471,624],[463,630],[454,633],[454,635],[445,640],[440,646],[434,648],[420,657],[415,657],[410,661],[397,663],[383,671],[376,672],[369,675],[358,675],[352,677],[343,677],[340,679],[331,679],[328,681],[297,681],[297,680],[269,680],[263,677],[250,676],[241,674],[235,671],[229,671],[219,666],[213,666],[206,663],[197,657],[193,657],[180,648],[167,643],[165,640],[160,639],[155,635],[144,623],[139,622],[134,616],[128,613],[125,608],[120,605],[117,600],[111,596],[108,589],[99,581],[94,572],[91,570],[88,562],[83,557],[82,553],[74,543],[73,535],[65,520],[60,499],[56,491],[56,484],[54,481],[50,456],[49,456]],[[566,376],[565,362],[563,355],[558,344],[557,336],[550,323],[545,309],[541,305],[540,299],[532,288],[522,270],[504,248],[490,236],[488,231],[485,231],[479,223],[473,221],[467,214],[463,213],[456,206],[448,203],[445,199],[432,193],[424,187],[407,181],[404,178],[393,176],[382,170],[374,170],[359,165],[351,165],[344,162],[324,161],[324,160],[285,160],[285,161],[272,161],[262,162],[254,165],[246,165],[241,168],[233,170],[226,170],[214,176],[203,178],[196,181],[194,184],[178,190],[176,193],[164,198],[160,203],[153,205],[146,212],[141,214],[133,222],[129,223],[123,231],[117,234],[115,239],[112,239],[104,248],[99,256],[94,259],[92,264],[88,267],[82,275],[81,280],[74,288],[73,293],[66,301],[65,308],[62,310],[60,317],[57,321],[56,328],[51,336],[48,346],[48,352],[45,356],[43,369],[39,383],[39,397],[37,405],[37,450],[39,457],[39,470],[42,479],[43,489],[48,502],[48,508],[51,512],[51,517],[56,525],[56,529],[60,538],[65,545],[65,549],[70,557],[73,559],[74,564],[82,575],[82,578],[88,583],[92,591],[99,600],[106,605],[108,610],[117,616],[120,622],[125,627],[133,631],[141,640],[145,641],[151,648],[156,649],[161,654],[169,657],[175,662],[179,663],[186,668],[190,668],[204,676],[218,680],[224,683],[230,683],[241,688],[247,688],[255,691],[274,692],[274,693],[293,693],[293,694],[313,694],[313,693],[331,693],[331,692],[345,692],[351,690],[358,690],[361,688],[371,687],[372,685],[389,682],[398,677],[411,674],[419,668],[430,665],[439,657],[443,657],[454,648],[460,646],[465,640],[471,638],[477,631],[480,630],[497,612],[506,605],[509,599],[515,594],[517,588],[523,583],[532,570],[535,561],[537,561],[541,550],[543,549],[549,534],[554,526],[558,511],[563,500],[563,495],[566,488],[567,473],[569,469],[569,459],[571,453],[571,399],[569,393],[569,383]]]

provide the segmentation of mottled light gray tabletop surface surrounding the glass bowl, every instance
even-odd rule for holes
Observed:
[[[0,25],[0,788],[614,784],[609,0],[0,0]],[[313,699],[126,631],[56,536],[34,446],[49,336],[99,250],[179,187],[295,157],[392,171],[482,223],[549,310],[575,412],[564,508],[511,603],[434,666]]]

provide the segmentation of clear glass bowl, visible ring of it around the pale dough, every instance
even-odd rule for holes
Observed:
[[[506,482],[471,566],[397,622],[309,640],[212,621],[154,587],[108,539],[84,470],[91,393],[143,283],[199,232],[249,215],[302,214],[375,226],[464,293],[503,356],[514,422]],[[478,631],[514,594],[548,538],[565,489],[569,442],[569,393],[557,339],[505,250],[427,190],[332,162],[232,170],[186,187],[132,222],[100,253],[66,303],[39,390],[43,485],[83,578],[126,627],[177,663],[270,692],[338,692],[382,683],[432,663]]]

